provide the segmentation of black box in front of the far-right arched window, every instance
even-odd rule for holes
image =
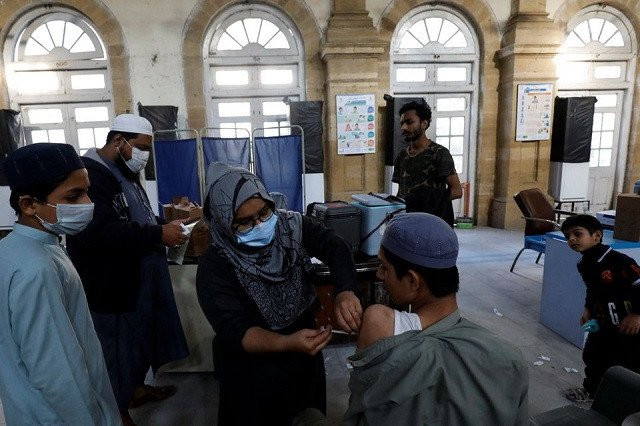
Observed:
[[[594,96],[556,97],[551,136],[551,161],[589,162],[595,104]]]

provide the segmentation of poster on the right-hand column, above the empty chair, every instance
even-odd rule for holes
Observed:
[[[543,141],[551,135],[553,84],[518,84],[517,141]]]

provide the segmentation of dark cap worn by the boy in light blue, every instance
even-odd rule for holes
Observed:
[[[13,191],[66,176],[74,170],[84,169],[84,164],[71,145],[34,143],[9,154],[2,167]]]

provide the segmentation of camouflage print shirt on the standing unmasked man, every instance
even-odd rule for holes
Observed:
[[[409,155],[407,149],[401,151],[393,162],[391,180],[400,186],[398,197],[404,198],[420,185],[444,188],[447,177],[456,174],[453,157],[444,146],[431,141],[424,151],[414,156]]]

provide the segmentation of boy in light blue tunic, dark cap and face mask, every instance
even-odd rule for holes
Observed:
[[[0,399],[7,424],[118,425],[100,341],[60,235],[93,217],[71,145],[38,143],[3,164],[18,216],[0,240]],[[6,201],[5,201],[6,202]]]

